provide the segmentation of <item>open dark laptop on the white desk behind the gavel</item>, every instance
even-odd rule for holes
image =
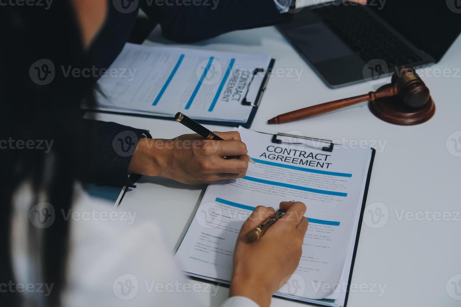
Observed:
[[[332,1],[291,12],[278,29],[331,88],[437,63],[461,32],[460,0]]]

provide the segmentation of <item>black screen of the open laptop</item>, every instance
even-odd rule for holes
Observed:
[[[461,32],[461,0],[368,0],[368,4],[437,62]]]

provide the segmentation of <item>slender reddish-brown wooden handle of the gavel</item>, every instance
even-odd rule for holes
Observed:
[[[398,93],[395,85],[384,88],[381,91],[370,92],[365,95],[355,96],[351,98],[339,99],[335,101],[317,104],[304,109],[291,111],[285,114],[276,116],[268,121],[269,124],[281,124],[284,122],[293,122],[303,118],[320,115],[334,110],[342,109],[353,104],[358,104],[364,101],[373,101],[376,98],[391,97]]]

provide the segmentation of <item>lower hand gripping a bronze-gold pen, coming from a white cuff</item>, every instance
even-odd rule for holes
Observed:
[[[272,295],[295,272],[302,254],[308,222],[303,203],[282,202],[284,217],[270,226],[258,240],[251,242],[248,232],[274,214],[273,208],[256,207],[242,226],[234,249],[233,273],[229,296],[245,296],[260,307],[271,304]]]

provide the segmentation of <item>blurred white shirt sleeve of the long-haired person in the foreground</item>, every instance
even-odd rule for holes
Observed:
[[[133,210],[95,202],[85,193],[74,203],[72,212],[78,214],[71,221],[63,306],[209,305],[208,293],[216,295],[219,287],[186,278],[165,243],[168,233]],[[237,296],[222,307],[258,305]]]

